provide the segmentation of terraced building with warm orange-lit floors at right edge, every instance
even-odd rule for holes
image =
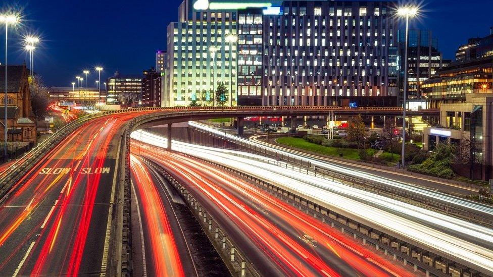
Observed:
[[[423,81],[422,97],[438,108],[442,103],[464,102],[470,93],[491,92],[491,66],[491,57],[454,62]]]

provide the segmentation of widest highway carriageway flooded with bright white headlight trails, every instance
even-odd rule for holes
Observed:
[[[152,133],[134,132],[132,138],[166,147],[166,139]],[[266,158],[255,154],[182,142],[173,142],[173,150],[218,162],[267,180],[281,188],[326,203],[328,208],[340,210],[377,230],[392,236],[397,234],[404,241],[423,245],[429,251],[457,257],[493,272],[490,265],[493,264],[491,229],[337,182],[262,163],[252,158]]]

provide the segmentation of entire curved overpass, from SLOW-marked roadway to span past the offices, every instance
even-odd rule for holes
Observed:
[[[2,272],[120,275],[129,270],[129,144],[134,130],[168,124],[171,132],[172,123],[193,120],[236,117],[241,125],[244,117],[295,118],[332,112],[399,116],[402,108],[157,107],[79,118],[0,174],[0,260],[7,261],[0,265]],[[410,110],[408,115],[438,113]],[[69,257],[66,263],[59,262],[61,256]],[[26,258],[34,262],[23,265]]]

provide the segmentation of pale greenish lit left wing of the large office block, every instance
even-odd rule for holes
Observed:
[[[236,12],[196,11],[192,1],[185,0],[179,7],[179,21],[168,25],[163,104],[214,105],[219,83],[228,90],[232,87],[235,103],[236,77],[231,74],[236,68],[236,47],[233,43],[230,48],[226,36],[236,35]]]

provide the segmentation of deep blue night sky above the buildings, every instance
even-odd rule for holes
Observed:
[[[181,0],[4,0],[23,8],[22,26],[9,32],[9,64],[29,64],[22,35],[36,33],[35,71],[47,86],[71,86],[82,70],[101,65],[102,82],[115,71],[141,74],[166,47],[166,27],[178,19]],[[423,14],[411,27],[430,29],[445,59],[469,37],[489,34],[493,0],[423,0]],[[3,26],[3,25],[2,25]],[[3,27],[2,27],[3,28]],[[0,31],[4,64],[4,30]],[[96,73],[88,78],[95,86]]]

